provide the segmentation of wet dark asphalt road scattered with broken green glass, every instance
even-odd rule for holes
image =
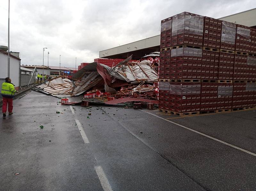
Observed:
[[[158,118],[256,153],[255,110],[192,117],[146,110],[156,117],[73,106],[73,114],[57,101],[28,92],[0,120],[1,191],[256,190],[256,156]]]

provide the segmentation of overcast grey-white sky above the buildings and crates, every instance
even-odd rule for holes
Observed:
[[[220,18],[255,0],[10,0],[10,50],[21,64],[75,67],[99,51],[160,34],[160,21],[183,11]],[[8,45],[8,0],[0,3],[0,45]],[[59,61],[61,55],[61,61]],[[1,63],[3,64],[3,63]]]

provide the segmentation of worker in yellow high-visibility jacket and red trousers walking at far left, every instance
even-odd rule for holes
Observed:
[[[14,93],[18,92],[14,89],[14,85],[11,83],[11,81],[12,80],[10,77],[6,77],[5,82],[2,84],[1,95],[3,97],[2,112],[3,112],[4,119],[6,117],[7,105],[8,105],[9,115],[12,114],[12,99],[14,97]]]

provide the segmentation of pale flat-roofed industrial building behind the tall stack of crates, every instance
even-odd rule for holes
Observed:
[[[218,19],[256,28],[255,18],[256,8]],[[133,55],[132,59],[140,59],[141,57],[145,56],[145,54],[155,51],[160,51],[160,34],[146,39],[131,42],[122,46],[102,50],[99,52],[99,57],[125,59],[130,55]]]

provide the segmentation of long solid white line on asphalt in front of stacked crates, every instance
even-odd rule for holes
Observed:
[[[143,112],[145,112],[145,113],[148,113],[148,112],[146,112],[146,111],[144,111],[144,110],[142,110],[142,109],[140,109],[140,111],[143,111]],[[238,149],[238,150],[240,150],[240,151],[246,152],[246,153],[248,153],[248,154],[250,154],[250,155],[256,157],[256,154],[253,153],[253,152],[246,151],[246,150],[241,149],[241,148],[239,148],[239,147],[237,147],[237,146],[234,146],[234,145],[232,145],[232,144],[229,144],[229,143],[226,143],[226,142],[221,141],[221,140],[219,140],[219,139],[216,139],[216,138],[214,138],[214,137],[212,137],[212,136],[205,135],[204,133],[200,133],[199,131],[196,131],[196,130],[194,130],[194,129],[190,129],[190,128],[188,128],[188,127],[185,127],[185,126],[180,125],[180,124],[178,124],[178,123],[175,123],[175,122],[173,122],[173,121],[169,121],[169,120],[167,120],[167,119],[164,119],[164,118],[162,118],[162,117],[159,117],[159,116],[157,116],[157,115],[155,115],[155,114],[151,114],[151,113],[148,113],[148,114],[153,115],[153,116],[155,116],[155,117],[158,117],[158,118],[160,118],[160,119],[162,119],[162,120],[164,120],[164,121],[168,121],[168,122],[170,122],[170,123],[173,123],[173,124],[175,124],[175,125],[178,125],[178,126],[180,126],[180,127],[182,127],[182,128],[185,128],[185,129],[188,129],[188,130],[190,130],[190,131],[193,131],[193,132],[195,132],[195,133],[198,133],[198,134],[200,134],[200,135],[206,136],[206,137],[208,137],[208,138],[210,138],[210,139],[213,139],[213,140],[218,141],[218,142],[220,142],[220,143],[226,144],[226,145],[228,145],[228,146],[230,146],[230,147],[233,147],[233,148],[235,148],[235,149]]]

